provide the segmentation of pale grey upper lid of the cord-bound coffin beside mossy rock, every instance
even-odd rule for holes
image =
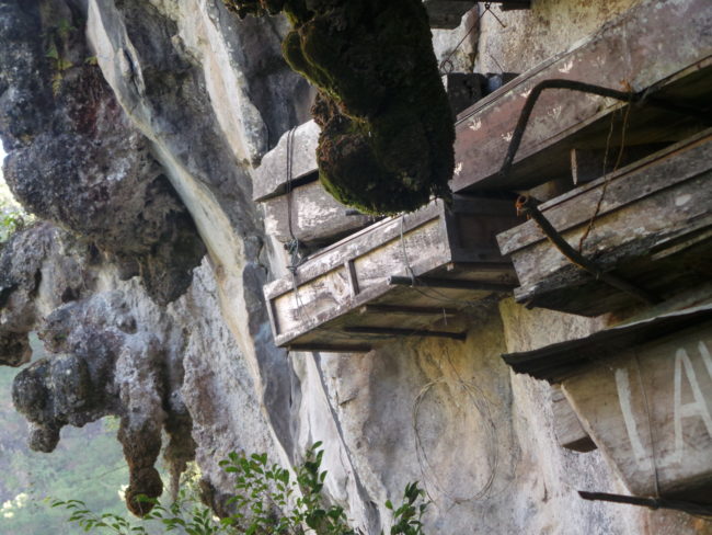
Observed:
[[[267,152],[255,170],[252,200],[264,201],[287,192],[289,179],[299,179],[317,172],[317,145],[321,129],[313,121],[285,133],[277,146]],[[291,177],[288,168],[291,166]]]

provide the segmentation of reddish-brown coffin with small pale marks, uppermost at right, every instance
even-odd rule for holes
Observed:
[[[710,126],[712,2],[643,1],[570,52],[517,77],[462,112],[456,124],[452,190],[526,190],[571,173],[572,149],[673,143]],[[697,110],[675,113],[563,89],[546,90],[533,107],[514,166],[498,174],[527,96],[540,82],[575,80]],[[612,136],[609,132],[612,123]],[[602,163],[601,163],[602,166]]]

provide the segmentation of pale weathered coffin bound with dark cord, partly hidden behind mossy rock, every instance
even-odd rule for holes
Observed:
[[[264,204],[267,234],[283,243],[330,243],[374,221],[354,214],[319,183],[319,133],[310,121],[285,134],[255,172],[253,200]]]

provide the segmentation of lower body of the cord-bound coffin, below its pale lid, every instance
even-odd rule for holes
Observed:
[[[374,223],[365,215],[347,215],[319,181],[296,186],[290,193],[263,201],[265,231],[287,243],[297,239],[308,247],[334,242]],[[291,218],[291,225],[289,219]]]

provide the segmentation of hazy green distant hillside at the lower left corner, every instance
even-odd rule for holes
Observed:
[[[118,497],[128,470],[115,435],[118,422],[104,419],[82,429],[67,426],[51,454],[31,452],[27,424],[12,407],[18,369],[0,367],[0,534],[80,534],[64,510],[44,498],[78,499],[96,512],[126,509]]]

